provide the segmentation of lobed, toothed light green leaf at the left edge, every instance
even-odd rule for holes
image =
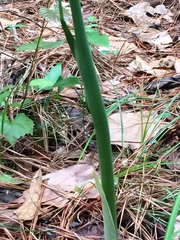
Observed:
[[[12,146],[16,140],[26,134],[33,134],[33,121],[24,113],[17,114],[15,119],[11,122],[7,115],[4,119],[4,131],[2,130],[3,113],[0,113],[0,133],[5,136],[5,140]]]

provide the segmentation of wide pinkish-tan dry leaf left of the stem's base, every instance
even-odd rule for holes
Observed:
[[[76,187],[83,193],[86,190],[85,198],[96,198],[99,193],[94,187],[93,170],[89,164],[76,164],[45,175],[43,179],[49,180],[42,202],[62,208],[70,198],[79,196]]]

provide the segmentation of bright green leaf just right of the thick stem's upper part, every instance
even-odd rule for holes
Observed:
[[[109,39],[107,35],[100,35],[98,30],[87,33],[87,39],[91,44],[95,44],[98,46],[109,47]]]

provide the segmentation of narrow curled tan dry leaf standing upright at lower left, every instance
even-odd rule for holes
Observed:
[[[38,206],[41,192],[42,172],[39,169],[31,180],[30,188],[24,192],[25,201],[15,213],[20,221],[32,220]]]

